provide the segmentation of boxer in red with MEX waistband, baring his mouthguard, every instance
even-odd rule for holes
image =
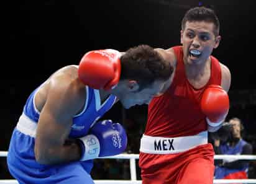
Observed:
[[[143,184],[213,183],[208,131],[220,128],[228,113],[231,73],[211,56],[221,40],[213,10],[194,7],[181,25],[182,46],[155,49],[174,72],[149,104],[140,142]]]

